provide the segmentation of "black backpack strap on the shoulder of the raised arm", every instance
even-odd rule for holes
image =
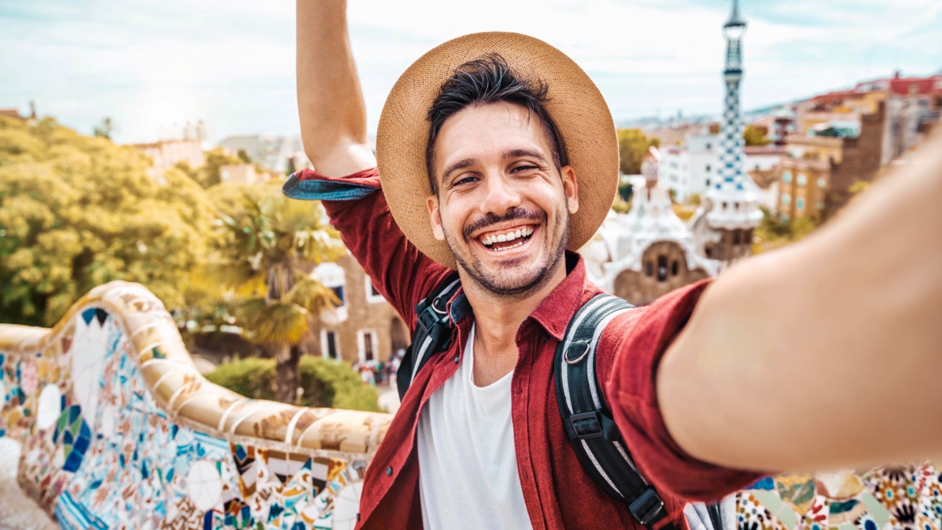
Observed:
[[[396,371],[396,387],[400,400],[405,397],[415,374],[425,366],[429,358],[445,351],[451,345],[453,323],[448,317],[447,304],[461,287],[462,282],[458,274],[451,274],[435,286],[429,296],[415,305],[416,323],[412,344],[406,349]]]

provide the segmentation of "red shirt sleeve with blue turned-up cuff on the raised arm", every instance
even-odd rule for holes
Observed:
[[[389,301],[410,329],[415,305],[450,270],[419,252],[399,229],[382,193],[376,168],[333,177],[305,169],[282,187],[292,199],[319,200],[350,254],[357,258],[373,287]],[[416,220],[416,223],[428,220]]]

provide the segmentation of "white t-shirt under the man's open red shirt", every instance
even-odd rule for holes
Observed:
[[[426,530],[532,528],[513,446],[511,378],[474,384],[474,325],[462,365],[419,418],[418,483]]]

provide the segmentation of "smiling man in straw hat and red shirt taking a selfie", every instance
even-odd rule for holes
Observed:
[[[374,157],[345,8],[298,2],[301,132],[317,173],[285,193],[324,200],[411,328],[453,269],[462,286],[447,301],[450,346],[414,375],[367,470],[359,527],[642,528],[583,469],[553,382],[566,326],[599,292],[571,251],[614,195],[604,100],[542,41],[469,35],[402,75]],[[933,146],[819,234],[605,326],[595,371],[664,499],[656,527],[686,527],[685,499],[760,472],[938,455]]]

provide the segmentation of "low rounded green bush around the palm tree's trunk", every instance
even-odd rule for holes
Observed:
[[[219,365],[206,376],[213,383],[253,399],[275,399],[275,359],[245,358]],[[379,393],[346,364],[316,356],[300,358],[300,406],[329,406],[380,412]]]

